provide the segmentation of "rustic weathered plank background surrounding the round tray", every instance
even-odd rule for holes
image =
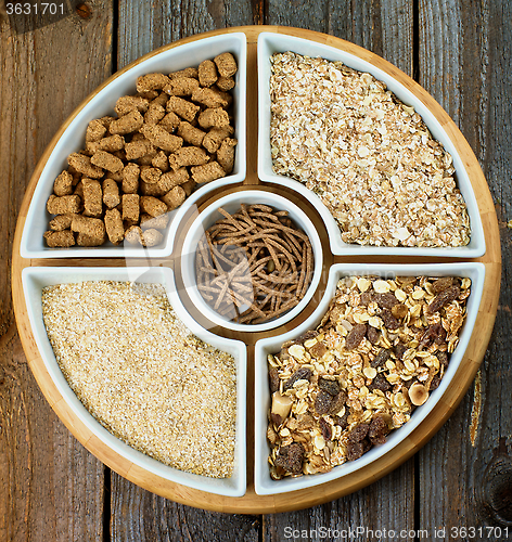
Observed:
[[[1,23],[0,541],[277,541],[285,539],[285,527],[432,532],[461,525],[508,526],[512,538],[511,22],[507,0],[93,0],[34,31],[16,34],[7,20]],[[214,514],[166,501],[87,452],[53,414],[26,364],[10,278],[25,188],[80,101],[112,73],[164,43],[252,24],[332,34],[412,75],[473,147],[496,204],[503,251],[489,349],[474,386],[441,430],[367,489],[323,506],[267,516]],[[488,540],[451,540],[481,539]]]

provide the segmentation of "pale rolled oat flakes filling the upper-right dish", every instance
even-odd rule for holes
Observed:
[[[345,243],[469,243],[452,158],[413,107],[342,62],[293,52],[270,61],[273,170],[320,197]]]

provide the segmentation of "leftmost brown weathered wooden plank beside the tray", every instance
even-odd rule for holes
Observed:
[[[23,35],[3,23],[0,35],[1,540],[95,541],[103,532],[103,465],[59,422],[31,376],[10,279],[17,211],[36,162],[66,116],[110,75],[110,2],[94,2],[92,15]]]

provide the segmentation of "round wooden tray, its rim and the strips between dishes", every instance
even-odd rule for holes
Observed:
[[[54,267],[80,267],[82,264],[87,266],[103,266],[103,267],[119,267],[124,266],[123,259],[24,259],[20,255],[20,244],[22,237],[22,231],[25,224],[27,211],[33,198],[34,191],[36,189],[37,182],[43,169],[46,162],[48,160],[50,153],[52,152],[59,138],[62,136],[64,130],[69,125],[71,120],[77,115],[78,111],[84,104],[81,104],[66,122],[61,127],[59,132],[52,139],[50,145],[44,151],[41,159],[39,160],[36,170],[33,175],[30,183],[28,185],[25,198],[22,204],[20,211],[20,218],[17,221],[16,233],[14,237],[13,247],[13,263],[12,263],[12,288],[13,288],[13,304],[14,311],[16,315],[16,322],[18,326],[20,336],[22,339],[23,348],[28,361],[28,364],[36,377],[36,380],[44,393],[48,402],[55,411],[56,415],[62,420],[66,427],[73,433],[73,435],[100,461],[105,463],[110,468],[118,473],[120,476],[129,479],[130,481],[153,491],[159,495],[171,499],[190,506],[202,507],[210,511],[228,512],[228,513],[247,513],[247,514],[261,514],[261,513],[278,513],[291,509],[299,509],[308,506],[313,506],[317,504],[337,499],[340,496],[346,495],[353,491],[356,491],[389,473],[412,454],[414,454],[420,448],[422,448],[439,429],[439,427],[446,422],[449,415],[453,412],[460,400],[462,399],[464,392],[473,380],[476,371],[484,358],[487,344],[490,338],[492,331],[492,325],[496,317],[496,311],[498,307],[499,297],[499,283],[500,283],[500,272],[501,272],[501,253],[500,253],[500,238],[498,230],[498,221],[496,218],[495,207],[492,199],[482,172],[482,169],[471,151],[468,142],[450,119],[448,114],[440,107],[440,105],[417,82],[414,82],[410,77],[400,72],[397,67],[393,66],[388,62],[384,61],[380,56],[362,49],[358,46],[344,41],[340,38],[332,36],[327,36],[324,34],[315,33],[311,30],[304,30],[298,28],[279,27],[279,26],[246,26],[238,28],[228,28],[222,30],[216,30],[212,33],[202,34],[199,36],[193,36],[190,38],[182,39],[175,43],[165,46],[148,55],[139,59],[130,66],[127,66],[121,72],[117,73],[113,77],[118,76],[120,73],[125,72],[135,64],[140,63],[142,60],[151,56],[157,52],[165,51],[170,48],[178,47],[180,44],[195,41],[209,36],[217,36],[219,34],[243,31],[247,36],[247,175],[243,184],[259,184],[257,176],[257,68],[256,68],[256,43],[258,35],[261,31],[272,31],[284,35],[297,36],[300,38],[317,41],[319,43],[324,43],[331,47],[338,48],[341,50],[347,51],[360,59],[363,59],[374,66],[383,69],[395,79],[400,81],[405,87],[407,87],[411,92],[413,92],[434,114],[437,120],[440,122],[443,128],[449,134],[451,141],[453,142],[457,151],[459,152],[469,177],[473,186],[473,191],[478,203],[478,210],[482,218],[485,242],[486,242],[486,254],[478,258],[485,264],[486,275],[484,283],[484,293],[477,314],[477,331],[478,333],[473,333],[461,365],[452,378],[449,388],[446,390],[441,399],[433,409],[432,413],[414,429],[405,440],[402,440],[398,446],[396,446],[392,451],[382,457],[377,459],[370,465],[354,472],[353,474],[343,476],[334,481],[323,483],[321,486],[316,486],[309,489],[304,489],[299,491],[281,493],[276,495],[257,495],[254,491],[254,356],[252,353],[254,350],[249,347],[248,349],[248,364],[247,364],[247,491],[244,496],[241,498],[229,498],[217,494],[212,494],[195,489],[191,489],[184,486],[180,486],[175,482],[170,482],[164,478],[161,478],[154,474],[151,474],[143,468],[130,463],[128,460],[124,459],[110,448],[107,448],[97,436],[94,436],[72,412],[67,406],[66,402],[59,393],[53,380],[48,374],[41,356],[36,346],[34,335],[30,328],[30,323],[27,317],[27,308],[22,288],[22,270],[30,266],[54,266]],[[92,94],[94,95],[94,94]],[[90,100],[91,96],[87,99]],[[233,190],[234,188],[227,190]],[[241,188],[243,190],[243,188]],[[241,190],[238,189],[238,190]],[[236,190],[236,189],[234,189]],[[210,195],[215,197],[215,195]],[[323,240],[324,241],[324,240]],[[324,264],[336,263],[336,262],[376,262],[380,263],[392,261],[391,258],[383,257],[330,257],[330,261],[325,261]],[[434,262],[434,261],[446,261],[446,259],[440,258],[393,258],[393,262]],[[155,264],[158,264],[155,261]],[[165,264],[165,263],[164,263]],[[290,328],[289,326],[286,326]],[[272,331],[276,334],[280,330]],[[241,337],[242,338],[242,337]],[[253,337],[253,340],[259,337]]]

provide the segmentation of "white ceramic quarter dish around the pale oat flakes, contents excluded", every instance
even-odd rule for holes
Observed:
[[[298,54],[317,57],[321,56],[329,61],[342,61],[347,66],[359,72],[367,72],[376,79],[384,81],[404,103],[412,105],[421,115],[433,137],[440,141],[445,149],[451,154],[457,171],[457,182],[464,196],[471,221],[471,241],[463,247],[377,247],[347,244],[342,241],[340,228],[329,209],[320,198],[304,184],[287,177],[276,175],[272,170],[272,158],[270,154],[270,56],[274,53],[293,51]],[[335,255],[400,255],[400,256],[446,256],[451,258],[476,258],[485,254],[485,237],[478,206],[473,193],[464,163],[456,150],[448,133],[441,127],[437,118],[423,104],[423,102],[398,82],[386,72],[373,64],[341,49],[309,41],[293,36],[276,33],[261,33],[258,37],[258,176],[263,181],[287,185],[304,194],[318,209],[325,222],[331,249]]]

